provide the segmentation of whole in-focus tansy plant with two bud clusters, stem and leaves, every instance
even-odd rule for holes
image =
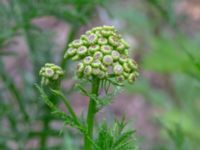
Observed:
[[[78,81],[87,81],[91,86],[91,90],[83,87],[86,86],[83,82],[76,86],[90,98],[86,119],[82,120],[76,115],[65,95],[58,90],[64,71],[50,63],[45,64],[40,70],[42,79],[41,87],[38,89],[43,99],[67,125],[78,129],[84,135],[84,150],[136,149],[134,132],[124,131],[124,121],[116,121],[112,128],[104,122],[95,136],[93,133],[95,115],[111,102],[118,89],[116,87],[123,86],[125,82],[132,84],[138,76],[137,64],[129,58],[128,49],[128,44],[113,26],[95,27],[68,45],[64,59],[76,62],[75,73]],[[69,113],[59,110],[45,93],[46,88],[64,100]]]

